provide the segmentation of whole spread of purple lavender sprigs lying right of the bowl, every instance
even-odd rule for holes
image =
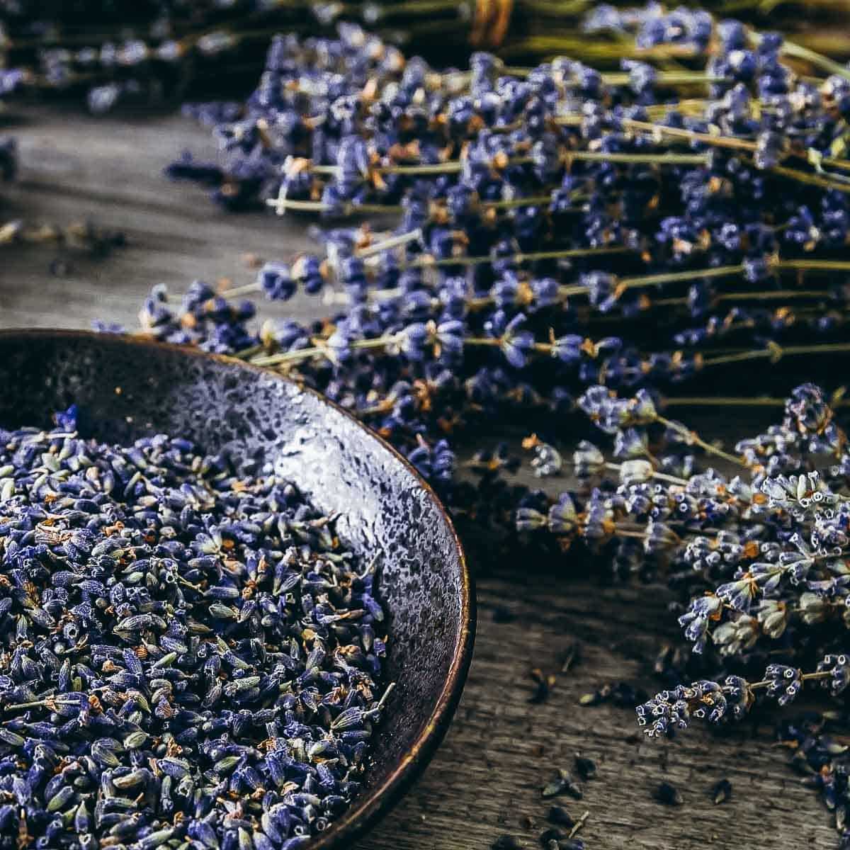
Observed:
[[[266,263],[224,292],[195,281],[178,305],[158,286],[141,311],[144,333],[347,407],[463,530],[669,581],[694,651],[660,657],[670,687],[638,709],[653,735],[744,717],[760,694],[785,706],[807,683],[842,706],[850,679],[843,402],[804,382],[850,352],[850,71],[821,58],[827,76],[800,76],[781,37],[676,15],[713,46],[704,70],[558,59],[520,76],[476,54],[471,71],[438,73],[351,26],[338,42],[276,39],[241,115],[216,127],[216,199],[398,224],[331,229],[324,256]],[[195,168],[218,165],[170,173]],[[339,306],[258,325],[242,300],[298,290]],[[689,384],[760,396],[679,394]],[[784,416],[730,448],[670,415],[748,403]],[[568,456],[588,420],[606,445]],[[553,498],[514,483],[519,436],[538,475],[583,486]],[[847,721],[838,708],[780,734],[850,845],[850,756],[832,737]]]

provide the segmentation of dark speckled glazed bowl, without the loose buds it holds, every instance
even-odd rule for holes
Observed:
[[[448,728],[473,648],[474,595],[433,491],[352,416],[296,383],[175,346],[82,331],[0,331],[0,425],[48,426],[76,403],[85,436],[153,433],[206,450],[271,456],[355,550],[382,553],[388,677],[397,682],[365,790],[314,850],[350,847],[386,814]]]

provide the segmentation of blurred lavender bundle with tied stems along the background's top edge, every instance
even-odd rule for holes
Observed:
[[[813,49],[847,54],[844,40],[835,35],[847,18],[836,4],[783,3],[769,14],[762,14],[760,3],[737,3],[735,8],[757,24],[792,31],[809,54]],[[592,39],[576,34],[589,13],[596,35]],[[804,28],[797,26],[801,18],[807,21]],[[641,59],[651,54],[673,69],[708,47],[707,40],[692,40],[693,20],[688,9],[666,14],[653,5],[641,14],[621,14],[588,0],[7,0],[0,4],[0,59],[4,67],[15,69],[27,88],[82,95],[91,111],[102,113],[124,102],[180,97],[190,86],[202,87],[205,79],[220,80],[224,66],[231,79],[250,77],[278,31],[315,33],[351,21],[395,45],[430,50],[442,61],[447,54],[462,59],[470,49],[498,48],[506,58],[569,54],[606,67],[623,56]],[[600,27],[609,31],[607,37],[598,37]],[[637,42],[631,38],[634,30],[640,31]]]

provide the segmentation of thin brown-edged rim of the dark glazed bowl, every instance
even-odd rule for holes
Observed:
[[[432,502],[445,522],[451,536],[451,541],[456,549],[458,564],[461,570],[461,629],[455,647],[452,651],[449,671],[446,675],[443,688],[440,690],[437,702],[422,731],[416,736],[416,740],[405,751],[398,764],[388,774],[381,785],[370,788],[354,799],[354,803],[343,817],[335,821],[329,830],[320,836],[314,836],[309,843],[309,850],[331,850],[331,847],[349,847],[366,832],[377,825],[401,797],[409,791],[411,785],[418,779],[424,769],[428,766],[440,743],[445,737],[451,720],[455,715],[458,703],[461,700],[463,687],[467,680],[467,672],[473,656],[473,644],[475,640],[476,626],[476,602],[473,577],[467,564],[466,553],[463,549],[460,537],[457,535],[455,524],[446,511],[443,503],[434,492],[433,487],[428,484],[422,475],[416,470],[410,461],[402,455],[393,445],[380,434],[367,428],[353,414],[345,410],[337,402],[326,398],[318,390],[308,387],[302,382],[293,380],[291,377],[280,374],[264,366],[255,365],[246,360],[239,360],[227,354],[211,354],[201,351],[199,348],[175,345],[173,343],[161,343],[152,337],[133,337],[127,334],[99,333],[97,331],[69,330],[62,328],[3,328],[0,329],[0,341],[11,340],[15,337],[23,341],[37,342],[39,339],[59,339],[68,342],[82,341],[102,345],[125,345],[136,348],[156,348],[171,351],[185,357],[214,360],[223,365],[235,366],[247,371],[255,371],[263,376],[274,377],[275,380],[292,384],[299,391],[312,395],[320,404],[328,405],[337,413],[345,416],[357,428],[360,428],[370,439],[376,440],[384,450],[387,450],[394,459],[402,464],[408,473],[416,479],[426,496]]]

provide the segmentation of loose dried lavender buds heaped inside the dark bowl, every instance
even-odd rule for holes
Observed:
[[[270,467],[75,415],[0,430],[0,847],[302,847],[391,691],[374,562]]]

